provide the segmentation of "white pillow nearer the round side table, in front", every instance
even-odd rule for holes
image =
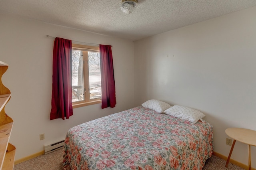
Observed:
[[[205,117],[205,115],[195,109],[185,106],[174,105],[173,107],[166,109],[165,114],[196,123],[199,119]]]

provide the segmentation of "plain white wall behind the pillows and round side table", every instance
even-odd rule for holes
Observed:
[[[256,130],[255,17],[248,8],[135,42],[135,105],[159,99],[202,111],[214,151],[228,156],[226,128]],[[236,142],[231,158],[247,165],[247,145]]]

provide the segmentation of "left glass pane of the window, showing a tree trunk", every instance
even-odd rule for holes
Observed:
[[[72,50],[72,102],[84,100],[82,51]]]

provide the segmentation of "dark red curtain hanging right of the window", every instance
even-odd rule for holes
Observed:
[[[116,86],[111,45],[100,44],[101,108],[116,106]]]

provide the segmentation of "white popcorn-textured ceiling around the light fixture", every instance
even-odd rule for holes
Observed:
[[[120,10],[120,1],[0,0],[0,14],[140,40],[256,6],[256,0],[138,0],[136,11],[124,14]]]

